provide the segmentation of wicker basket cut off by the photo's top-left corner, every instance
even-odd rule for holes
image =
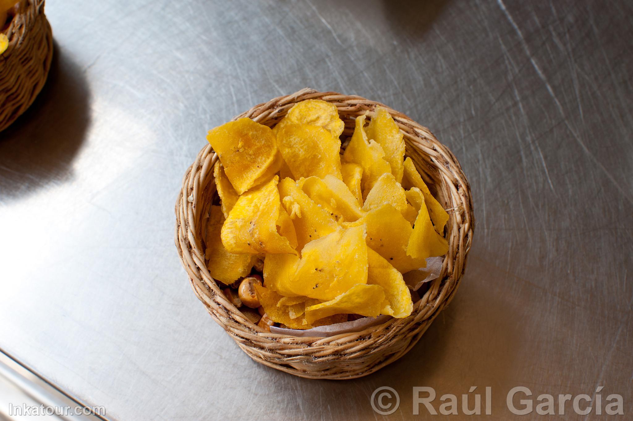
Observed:
[[[27,110],[46,82],[53,58],[53,34],[44,0],[23,0],[5,32],[0,54],[0,131]]]

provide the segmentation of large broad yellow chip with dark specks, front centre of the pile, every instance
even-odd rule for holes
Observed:
[[[337,229],[306,244],[289,288],[297,295],[332,300],[354,284],[365,283],[365,226],[358,226]]]

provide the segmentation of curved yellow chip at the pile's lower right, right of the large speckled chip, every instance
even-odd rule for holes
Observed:
[[[396,319],[410,315],[413,311],[413,302],[402,274],[371,248],[367,249],[367,261],[369,264],[367,284],[382,286],[385,298],[389,302],[389,305],[385,306],[380,313],[391,315]]]

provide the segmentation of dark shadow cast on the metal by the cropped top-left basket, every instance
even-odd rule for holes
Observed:
[[[54,44],[51,71],[32,106],[0,133],[0,200],[72,180],[72,161],[90,121],[84,72]]]

